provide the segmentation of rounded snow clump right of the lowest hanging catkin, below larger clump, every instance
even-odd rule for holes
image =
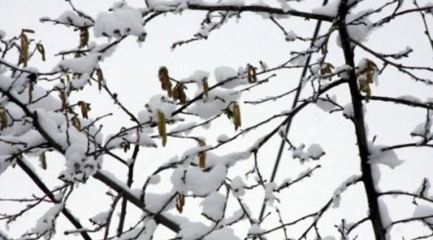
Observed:
[[[212,192],[201,202],[203,215],[214,221],[223,219],[225,212],[225,196],[219,192]]]

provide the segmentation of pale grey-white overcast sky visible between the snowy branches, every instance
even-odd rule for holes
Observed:
[[[106,11],[111,7],[113,1],[73,1],[77,8],[87,12],[96,18],[98,12]],[[143,1],[127,1],[129,5],[142,7]],[[322,1],[304,1],[302,5],[291,3],[293,8],[308,10],[321,4]],[[373,4],[381,1],[365,1],[359,6],[360,9],[370,8]],[[406,1],[410,6],[411,1]],[[421,1],[420,1],[421,2]],[[424,2],[424,1],[422,1]],[[265,1],[268,3],[268,1]],[[276,4],[269,1],[269,4]],[[78,45],[78,32],[67,29],[60,25],[50,23],[40,23],[38,19],[43,16],[55,18],[69,10],[69,5],[65,1],[54,0],[0,0],[0,29],[7,33],[7,37],[16,36],[21,32],[21,28],[30,28],[36,31],[32,38],[41,40],[47,51],[47,62],[41,62],[37,57],[30,62],[30,65],[38,67],[41,71],[49,71],[60,60],[54,54],[60,50],[71,49]],[[384,12],[386,14],[386,12]],[[379,14],[380,16],[383,16]],[[183,12],[181,15],[167,14],[159,16],[155,21],[146,27],[148,37],[146,42],[139,47],[132,37],[122,42],[116,49],[113,56],[102,62],[101,67],[107,84],[119,95],[120,101],[131,109],[131,112],[138,112],[144,109],[144,104],[155,94],[162,91],[157,80],[157,70],[160,66],[166,66],[170,71],[170,76],[175,79],[188,77],[195,70],[210,72],[210,81],[213,79],[213,71],[216,67],[229,66],[238,69],[239,66],[245,67],[247,63],[258,66],[258,61],[263,60],[269,67],[285,62],[289,58],[290,51],[302,51],[307,47],[304,43],[287,43],[279,29],[269,20],[264,20],[257,14],[242,14],[238,23],[234,19],[230,20],[225,26],[216,32],[212,32],[208,40],[190,43],[170,50],[170,45],[176,40],[188,39],[199,29],[199,22],[203,16],[202,12]],[[431,20],[431,16],[430,17]],[[373,19],[374,20],[374,19]],[[298,36],[309,37],[313,34],[315,21],[304,21],[290,17],[281,21],[287,30],[293,30]],[[322,31],[328,29],[329,24],[322,25]],[[433,30],[433,29],[432,29]],[[412,65],[432,66],[433,54],[428,45],[428,40],[423,36],[423,26],[419,14],[408,14],[395,23],[381,27],[368,36],[366,45],[382,53],[393,53],[410,46],[414,49],[412,58],[404,62]],[[335,34],[331,37],[329,45],[329,62],[334,66],[344,64],[342,49],[335,45]],[[91,40],[98,43],[106,43],[106,39],[96,39],[91,34]],[[371,58],[368,54],[357,49],[355,62],[362,57]],[[300,77],[299,70],[282,70],[277,77],[271,78],[269,84],[243,95],[243,100],[260,99],[269,95],[276,95],[296,87]],[[426,75],[425,77],[433,76]],[[308,97],[311,93],[307,88],[302,97]],[[191,92],[193,93],[193,92]],[[373,86],[373,95],[386,95],[399,97],[402,95],[413,95],[421,101],[427,100],[432,95],[432,86],[425,86],[416,83],[408,77],[398,74],[397,71],[388,69],[383,75],[379,76],[379,86]],[[337,95],[337,101],[341,105],[350,102],[347,86],[340,86],[331,95]],[[78,95],[76,100],[86,99],[91,101],[91,117],[103,115],[107,112],[115,112],[114,117],[104,121],[104,134],[118,131],[121,126],[127,126],[127,117],[118,109],[113,108],[112,102],[107,95],[99,95],[96,87],[93,86],[84,93]],[[261,106],[241,105],[243,113],[243,126],[249,126],[270,115],[287,110],[291,106],[292,95],[284,97],[278,101],[271,101]],[[368,123],[368,139],[373,139],[377,135],[378,144],[395,145],[399,143],[412,143],[417,141],[410,137],[410,132],[414,127],[421,123],[425,118],[425,110],[411,109],[407,106],[397,106],[394,104],[384,104],[371,101],[366,104],[366,122]],[[280,120],[274,121],[277,124]],[[246,134],[230,146],[223,147],[216,151],[216,154],[225,154],[233,151],[245,151],[256,139],[271,130],[273,125],[267,125],[250,134]],[[219,134],[234,134],[232,123],[225,117],[212,124],[210,130],[200,129],[195,132],[199,136],[205,136],[208,143],[215,143],[216,136]],[[304,180],[301,184],[293,187],[282,195],[278,195],[283,204],[280,204],[282,215],[285,221],[296,219],[302,213],[307,214],[316,211],[320,206],[331,197],[333,191],[338,187],[342,180],[359,173],[359,158],[355,145],[355,133],[353,124],[342,117],[341,112],[329,114],[323,112],[316,106],[309,106],[298,115],[289,133],[289,139],[296,145],[305,143],[320,143],[326,152],[320,160],[322,169],[317,171],[312,178]],[[159,139],[155,140],[159,143]],[[280,138],[275,137],[266,147],[259,152],[259,165],[263,175],[269,178],[271,167],[274,164],[276,152]],[[137,161],[137,176],[133,188],[140,188],[149,173],[154,171],[159,165],[165,163],[171,157],[181,155],[186,149],[195,146],[194,142],[178,141],[169,139],[168,145],[158,149],[144,149]],[[287,147],[286,147],[287,148]],[[403,189],[415,191],[423,178],[428,177],[433,180],[433,152],[431,149],[404,149],[397,152],[399,158],[405,160],[403,165],[395,169],[381,166],[381,189]],[[56,179],[58,169],[64,166],[64,160],[56,154],[52,154],[48,159],[48,169],[43,171],[38,167],[36,159],[29,159],[34,163],[36,171],[41,178],[48,180],[47,184],[54,187],[59,182]],[[296,178],[301,171],[308,167],[313,167],[318,163],[300,164],[298,160],[292,160],[291,152],[285,151],[280,165],[279,173],[276,178],[277,184],[285,178]],[[240,173],[245,173],[245,169],[252,167],[252,160],[238,163],[230,169],[229,176],[234,177]],[[104,160],[103,169],[112,171],[121,180],[126,180],[126,168],[121,167],[110,158]],[[141,177],[142,176],[142,177]],[[169,182],[170,176],[162,176],[162,182]],[[254,180],[249,179],[249,182]],[[170,189],[170,184],[155,187],[152,191],[164,193]],[[87,184],[80,184],[68,202],[70,208],[76,215],[80,216],[80,221],[86,226],[90,226],[89,217],[93,217],[100,211],[107,211],[110,199],[104,193],[107,188],[100,182],[90,179]],[[0,176],[0,197],[24,197],[31,193],[41,194],[35,189],[34,184],[19,168],[8,169]],[[430,191],[430,195],[433,192]],[[102,197],[101,197],[102,196]],[[388,211],[392,219],[401,219],[412,216],[413,207],[410,205],[412,199],[392,199],[384,198],[388,204]],[[189,200],[189,199],[188,199]],[[203,217],[197,211],[200,200],[191,200],[186,203],[185,213],[182,215],[190,217],[194,221],[203,221]],[[263,191],[252,191],[245,195],[245,202],[248,203],[252,212],[258,217],[261,204],[263,203]],[[229,203],[230,207],[236,206],[234,202]],[[46,206],[45,206],[46,207]],[[16,208],[15,204],[4,204],[0,206],[0,212],[9,211]],[[16,208],[18,209],[18,208]],[[10,233],[12,237],[19,237],[23,230],[32,228],[35,219],[42,215],[47,208],[37,208],[26,214],[16,223],[11,224],[9,230],[0,224],[0,230]],[[129,208],[131,217],[129,224],[135,222],[135,218],[140,216],[140,211],[135,207]],[[366,199],[362,184],[349,189],[342,196],[340,208],[334,208],[326,213],[321,221],[320,228],[323,237],[335,235],[334,224],[340,224],[342,217],[348,221],[355,222],[366,213]],[[175,211],[173,214],[177,215]],[[306,222],[309,224],[309,222]],[[271,215],[269,223],[267,221],[263,227],[275,226],[276,217]],[[115,225],[113,225],[115,226]],[[302,226],[302,224],[301,224]],[[307,226],[307,225],[305,225]],[[63,236],[63,230],[71,229],[65,218],[60,217],[58,222],[58,234],[54,239],[76,239],[74,236]],[[301,230],[303,228],[300,228]],[[245,237],[247,226],[236,228],[236,233],[240,237]],[[419,224],[403,226],[399,225],[392,228],[392,239],[401,239],[400,236],[414,236],[424,228]],[[291,229],[293,232],[299,229]],[[359,239],[369,239],[372,237],[370,224],[364,224],[357,230]],[[174,237],[173,233],[163,227],[157,230],[155,239],[169,239]],[[276,236],[276,239],[280,239]],[[312,235],[309,237],[312,237]],[[98,238],[96,238],[98,239]]]

